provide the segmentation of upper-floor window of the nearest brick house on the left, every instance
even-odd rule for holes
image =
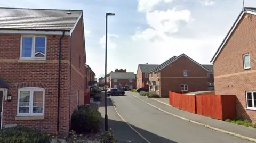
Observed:
[[[46,37],[22,36],[20,45],[20,59],[46,59]]]

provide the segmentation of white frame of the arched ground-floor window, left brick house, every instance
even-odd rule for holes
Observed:
[[[29,95],[29,113],[19,113],[20,92],[21,91],[30,91],[30,95]],[[43,92],[43,113],[33,113],[34,91],[41,91],[41,92]],[[44,88],[26,87],[26,88],[18,89],[17,116],[44,116],[44,105],[45,105],[45,103],[44,103],[45,99],[44,98],[45,98],[45,89]]]

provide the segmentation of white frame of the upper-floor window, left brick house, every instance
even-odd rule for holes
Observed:
[[[32,54],[31,57],[22,57],[22,42],[23,37],[32,37]],[[45,38],[45,54],[44,57],[35,57],[35,46],[36,46],[36,37]],[[47,51],[47,37],[40,35],[22,35],[20,37],[20,60],[46,60],[46,51]]]

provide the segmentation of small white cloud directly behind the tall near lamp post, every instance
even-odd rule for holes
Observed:
[[[115,39],[118,38],[118,35],[115,34],[108,34],[108,48],[110,49],[115,49],[117,47],[117,44],[115,43]],[[103,35],[100,38],[100,45],[105,48],[105,42],[106,41],[106,36]]]

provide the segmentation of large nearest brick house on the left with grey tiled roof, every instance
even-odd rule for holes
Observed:
[[[67,133],[84,104],[83,11],[0,8],[0,16],[0,127]]]

